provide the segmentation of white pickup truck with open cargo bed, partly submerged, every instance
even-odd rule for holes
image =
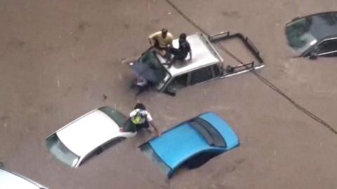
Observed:
[[[225,63],[227,60],[219,55],[214,43],[231,38],[238,38],[242,41],[257,61],[236,66]],[[147,50],[138,60],[131,62],[131,69],[140,81],[137,84],[143,85],[145,80],[150,82],[151,86],[158,92],[174,95],[176,90],[188,85],[203,83],[216,78],[226,78],[265,66],[255,45],[242,34],[230,34],[228,31],[212,36],[192,34],[187,36],[187,41],[190,43],[192,50],[192,59],[188,61],[176,62],[169,67],[165,65],[166,58],[161,56],[160,53],[156,50]],[[178,48],[178,39],[173,40],[173,46]]]

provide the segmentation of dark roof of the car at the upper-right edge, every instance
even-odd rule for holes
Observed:
[[[337,35],[337,12],[318,13],[303,18],[307,20],[312,35],[317,39]]]

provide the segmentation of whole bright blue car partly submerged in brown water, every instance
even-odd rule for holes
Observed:
[[[236,146],[239,138],[232,127],[216,113],[209,112],[150,139],[140,150],[171,178],[179,167],[200,167]]]

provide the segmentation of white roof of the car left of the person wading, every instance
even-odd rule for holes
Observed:
[[[70,151],[84,157],[106,141],[118,137],[119,126],[98,109],[62,127],[56,134]]]

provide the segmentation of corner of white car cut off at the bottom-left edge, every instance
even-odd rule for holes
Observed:
[[[0,188],[1,189],[48,189],[41,184],[32,181],[25,176],[8,172],[0,167]]]

